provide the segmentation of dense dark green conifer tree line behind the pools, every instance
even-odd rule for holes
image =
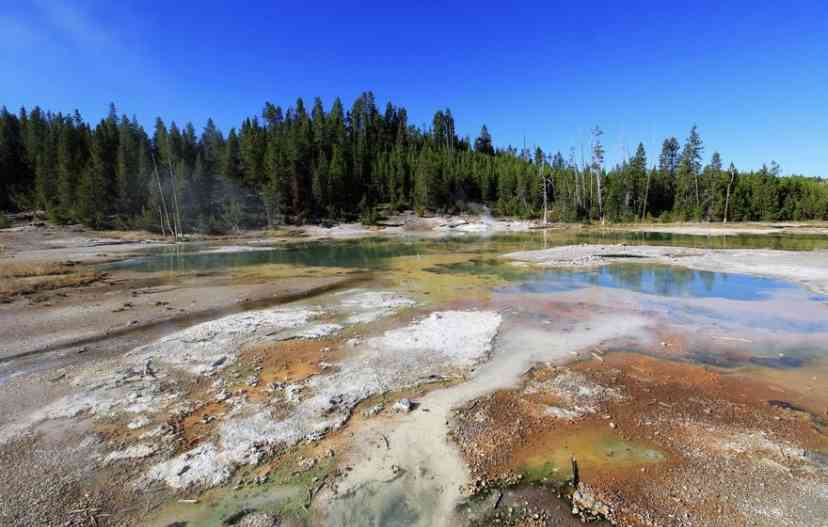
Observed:
[[[0,110],[0,210],[45,210],[60,223],[95,228],[216,233],[229,229],[361,219],[413,208],[551,221],[747,221],[828,219],[828,184],[781,177],[778,165],[739,171],[704,145],[694,126],[684,144],[665,139],[650,162],[643,144],[606,167],[601,130],[588,158],[496,148],[484,125],[458,136],[451,110],[427,128],[405,108],[380,111],[363,93],[346,110],[300,98],[266,103],[225,136],[207,121],[147,132],[114,105],[94,126],[80,114],[35,107]]]

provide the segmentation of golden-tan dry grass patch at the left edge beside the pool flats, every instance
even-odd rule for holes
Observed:
[[[77,268],[71,263],[3,263],[0,264],[0,301],[9,302],[15,296],[64,287],[81,287],[101,276],[101,273]]]

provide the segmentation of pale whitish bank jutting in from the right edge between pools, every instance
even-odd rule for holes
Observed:
[[[539,267],[594,268],[615,262],[669,264],[770,276],[828,293],[828,251],[708,250],[647,245],[568,245],[504,255]]]

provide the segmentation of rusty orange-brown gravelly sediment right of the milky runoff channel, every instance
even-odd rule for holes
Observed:
[[[548,415],[559,398],[526,386],[570,371],[620,397],[571,419]],[[762,500],[786,507],[776,524],[797,525],[820,501],[818,492],[796,489],[828,485],[808,454],[827,451],[828,437],[814,415],[768,404],[774,393],[763,379],[609,353],[535,369],[523,387],[473,401],[458,410],[452,436],[484,481],[521,473],[561,482],[571,477],[564,462],[574,455],[580,496],[605,504],[621,525],[747,525],[768,519]],[[636,449],[658,455],[637,458]]]

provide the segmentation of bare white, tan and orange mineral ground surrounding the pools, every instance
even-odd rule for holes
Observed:
[[[534,227],[401,215],[201,249]],[[0,231],[0,524],[572,525],[570,502],[619,525],[828,517],[828,401],[802,392],[810,379],[665,357],[682,336],[639,338],[652,321],[633,311],[548,304],[539,318],[490,303],[477,291],[489,279],[461,288],[419,254],[391,267],[397,289],[344,268],[99,267],[165,243]],[[669,263],[824,292],[826,256],[568,246],[508,259]],[[618,339],[628,350],[608,353]]]

